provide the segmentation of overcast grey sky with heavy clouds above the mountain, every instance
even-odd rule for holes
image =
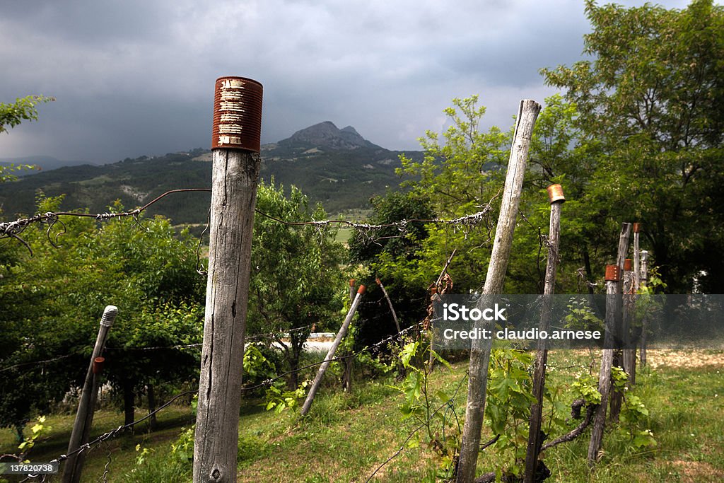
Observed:
[[[484,125],[510,127],[521,98],[555,93],[538,70],[581,59],[589,31],[583,0],[2,1],[0,102],[57,101],[1,134],[0,158],[209,148],[223,75],[264,85],[262,143],[329,120],[416,149],[453,97],[479,94]]]

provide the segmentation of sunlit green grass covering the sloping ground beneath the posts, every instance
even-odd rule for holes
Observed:
[[[572,395],[568,385],[592,359],[586,353],[559,351],[549,360],[549,381],[563,386],[563,400]],[[596,361],[593,361],[596,364]],[[594,366],[595,367],[595,366]],[[467,364],[441,368],[431,379],[433,390],[444,389],[455,398],[455,410],[464,413]],[[597,370],[597,369],[596,369]],[[649,367],[640,371],[632,393],[649,409],[645,427],[657,445],[633,450],[628,437],[615,425],[607,426],[604,454],[589,474],[586,451],[590,431],[573,442],[558,445],[544,454],[552,471],[550,482],[721,482],[724,480],[724,353],[656,352]],[[240,482],[364,482],[388,458],[398,455],[377,471],[372,481],[433,481],[439,465],[436,455],[411,434],[413,424],[402,421],[400,392],[394,382],[358,382],[345,394],[329,385],[315,400],[311,413],[300,419],[295,413],[264,411],[259,400],[247,400],[241,410],[238,481]],[[140,411],[139,411],[140,414]],[[83,481],[95,482],[104,474],[109,482],[185,482],[190,465],[171,463],[170,445],[191,421],[190,410],[172,406],[159,413],[160,429],[139,427],[88,455]],[[64,452],[72,416],[50,416],[53,428],[46,440],[33,449],[33,461],[48,461]],[[122,414],[99,411],[94,421],[98,432],[122,424]],[[558,434],[553,434],[552,437]],[[489,439],[484,429],[483,440]],[[0,450],[12,452],[13,435],[0,433]],[[141,451],[135,450],[141,445]],[[146,448],[142,464],[136,458]],[[479,472],[494,471],[493,447],[481,452]],[[135,469],[135,471],[134,471]],[[59,478],[46,479],[59,481]],[[103,481],[102,478],[100,481]]]

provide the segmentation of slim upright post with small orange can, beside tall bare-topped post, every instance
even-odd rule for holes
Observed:
[[[545,269],[545,283],[543,287],[543,306],[541,308],[540,331],[548,332],[552,316],[552,304],[555,293],[555,272],[558,266],[558,245],[560,244],[560,208],[565,201],[563,188],[560,185],[548,187],[550,200],[550,227],[548,230],[548,261]],[[538,466],[538,453],[542,444],[541,419],[543,412],[543,392],[545,389],[545,370],[548,362],[547,339],[538,340],[538,350],[533,369],[533,397],[536,402],[531,404],[531,417],[528,432],[528,448],[526,449],[526,469],[523,482],[533,483],[536,467]]]

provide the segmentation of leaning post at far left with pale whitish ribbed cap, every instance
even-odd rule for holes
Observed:
[[[85,373],[85,383],[83,384],[83,392],[80,393],[78,401],[78,411],[75,413],[75,422],[70,434],[70,442],[68,443],[68,454],[88,442],[90,436],[90,427],[93,425],[93,411],[96,410],[96,398],[98,398],[98,378],[100,374],[94,370],[98,366],[96,359],[102,359],[101,353],[106,346],[106,337],[111,325],[116,320],[118,308],[116,306],[106,306],[101,317],[101,327],[98,328],[98,337],[96,337],[96,345],[93,346],[93,355],[90,356],[90,365]],[[102,362],[102,361],[101,361]],[[80,451],[75,455],[70,455],[63,469],[63,483],[80,482],[80,473],[83,471],[83,463],[85,462],[85,452]]]

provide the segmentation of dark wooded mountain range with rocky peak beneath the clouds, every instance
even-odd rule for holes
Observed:
[[[369,209],[369,199],[396,188],[400,151],[390,151],[364,139],[351,127],[321,122],[278,143],[261,146],[261,178],[288,188],[295,185],[312,203],[321,202],[329,214]],[[405,151],[421,159],[421,151]],[[49,159],[51,160],[51,159]],[[18,160],[20,162],[28,162]],[[57,160],[55,160],[57,161]],[[113,164],[81,164],[49,169],[46,165],[17,182],[0,184],[2,216],[35,211],[38,190],[46,196],[65,195],[62,209],[107,211],[114,200],[132,209],[167,190],[209,188],[211,151],[195,149],[165,156],[141,156]],[[156,203],[148,214],[163,214],[175,224],[206,222],[209,193],[183,193]]]

